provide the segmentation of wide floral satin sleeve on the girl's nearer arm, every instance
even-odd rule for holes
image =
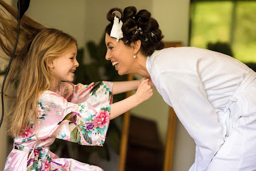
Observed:
[[[88,85],[90,89],[74,85],[76,92],[71,91],[71,102],[45,91],[38,101],[38,135],[42,139],[53,137],[80,145],[103,146],[110,122],[112,85],[104,81]]]

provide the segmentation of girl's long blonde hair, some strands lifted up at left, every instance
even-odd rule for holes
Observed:
[[[2,5],[3,2],[0,3]],[[6,4],[4,7],[10,10]],[[0,21],[2,26],[5,25],[4,29],[3,27],[0,29],[1,48],[7,56],[10,56],[10,49],[13,46],[5,42],[13,42],[13,37],[10,38],[9,34],[12,34],[14,25],[3,15]],[[75,38],[69,34],[61,30],[45,28],[29,17],[26,17],[25,23],[25,26],[21,23],[22,41],[15,53],[3,92],[5,94],[10,82],[17,85],[14,102],[8,113],[11,120],[9,134],[12,137],[17,137],[28,126],[37,127],[38,96],[50,86],[51,68],[47,64],[62,55],[71,44],[77,44]],[[7,27],[9,28],[6,29]],[[3,38],[6,40],[3,41]]]

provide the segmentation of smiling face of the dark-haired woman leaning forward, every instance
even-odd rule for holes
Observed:
[[[111,60],[113,67],[119,75],[125,75],[133,72],[135,63],[134,50],[126,46],[122,40],[117,42],[116,38],[110,37],[106,33],[105,42],[107,46],[106,60]]]

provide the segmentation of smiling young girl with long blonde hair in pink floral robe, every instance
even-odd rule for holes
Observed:
[[[11,35],[15,32],[12,20],[17,12],[0,3],[1,48],[10,56]],[[7,13],[13,14],[11,20],[6,18]],[[9,133],[14,146],[4,170],[102,170],[59,158],[49,146],[55,138],[103,146],[110,120],[153,95],[149,80],[73,85],[79,66],[75,38],[24,17],[21,41],[7,81],[17,84],[17,92],[10,109]],[[136,88],[134,95],[111,104],[112,95]]]

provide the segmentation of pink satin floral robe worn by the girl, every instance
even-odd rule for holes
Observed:
[[[102,170],[59,158],[49,146],[55,138],[103,146],[110,122],[112,86],[107,81],[90,85],[61,82],[57,92],[43,92],[38,98],[38,130],[32,125],[14,138],[4,170]]]

